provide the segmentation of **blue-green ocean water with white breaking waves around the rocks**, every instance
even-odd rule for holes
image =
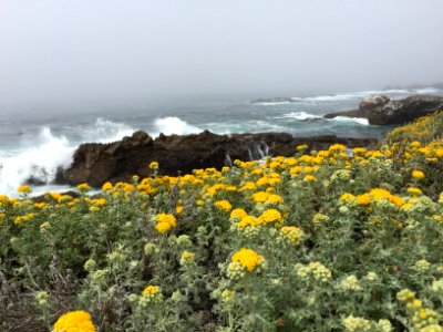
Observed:
[[[58,167],[70,165],[80,144],[114,142],[136,129],[151,136],[208,129],[217,134],[287,132],[293,136],[382,137],[390,127],[369,125],[364,118],[321,118],[327,113],[356,110],[363,96],[380,93],[391,98],[412,93],[443,95],[443,91],[429,87],[293,97],[292,103],[251,104],[247,98],[233,97],[20,112],[0,110],[0,195],[17,196],[17,188],[30,176],[47,183],[34,187],[34,195],[66,190],[69,187],[52,181]]]

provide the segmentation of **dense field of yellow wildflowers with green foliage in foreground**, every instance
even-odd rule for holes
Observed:
[[[0,196],[1,328],[443,331],[443,142],[395,135]]]

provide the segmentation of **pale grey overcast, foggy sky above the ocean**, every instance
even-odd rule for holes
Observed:
[[[0,0],[0,104],[443,81],[442,0]]]

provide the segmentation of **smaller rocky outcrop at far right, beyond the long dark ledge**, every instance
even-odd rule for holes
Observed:
[[[412,95],[404,100],[391,101],[387,96],[371,96],[360,102],[359,110],[324,115],[364,117],[372,125],[401,125],[420,116],[443,110],[443,97],[433,95]]]

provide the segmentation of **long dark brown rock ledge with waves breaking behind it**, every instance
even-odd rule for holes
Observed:
[[[297,145],[309,149],[328,148],[340,143],[349,147],[375,146],[375,138],[341,138],[318,136],[295,138],[286,133],[216,135],[203,132],[194,135],[159,135],[153,139],[144,132],[136,132],[120,142],[82,144],[73,163],[63,172],[60,181],[71,185],[89,183],[100,187],[105,181],[128,180],[133,175],[151,175],[148,164],[158,162],[163,175],[187,174],[193,169],[229,165],[231,160],[259,159],[267,155],[290,156]]]

